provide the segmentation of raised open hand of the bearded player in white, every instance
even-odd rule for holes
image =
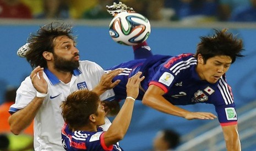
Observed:
[[[31,72],[30,79],[36,91],[41,92],[42,94],[47,94],[48,84],[45,78],[43,78],[43,68],[41,68],[40,66],[37,66]]]

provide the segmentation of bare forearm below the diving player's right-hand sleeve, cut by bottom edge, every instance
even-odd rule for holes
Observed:
[[[238,137],[238,127],[236,125],[222,126],[226,148],[229,151],[241,150],[241,143]]]

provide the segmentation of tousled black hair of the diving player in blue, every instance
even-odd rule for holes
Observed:
[[[236,36],[233,36],[232,33],[228,33],[227,29],[215,30],[214,36],[200,37],[201,41],[197,47],[197,53],[201,54],[204,59],[204,63],[214,56],[230,56],[232,62],[235,62],[237,58],[243,57],[241,51],[243,51],[243,42],[242,39],[238,39]]]

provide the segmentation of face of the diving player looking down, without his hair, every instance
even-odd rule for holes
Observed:
[[[230,56],[214,56],[204,63],[203,58],[198,57],[197,72],[202,80],[216,83],[230,67],[232,59]]]

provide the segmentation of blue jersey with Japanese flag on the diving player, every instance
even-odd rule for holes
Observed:
[[[174,105],[214,104],[222,125],[237,123],[235,104],[225,75],[222,75],[215,84],[201,80],[195,71],[197,63],[193,54],[153,55],[148,59],[132,60],[115,66],[110,70],[125,69],[123,73],[113,79],[121,79],[121,83],[114,88],[116,98],[123,100],[126,97],[128,78],[141,71],[145,79],[141,82],[142,89],[138,100],[142,100],[149,85],[156,85],[165,91],[165,99]]]

